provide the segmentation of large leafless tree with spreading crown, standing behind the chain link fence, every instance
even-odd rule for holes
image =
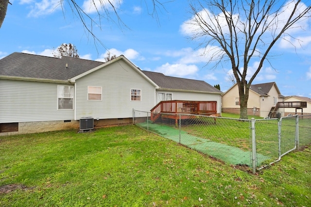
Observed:
[[[190,37],[207,49],[212,57],[208,61],[228,61],[232,66],[239,88],[240,118],[247,119],[250,85],[264,61],[270,64],[276,41],[291,36],[292,29],[308,20],[310,5],[301,0],[193,0],[190,8]],[[211,45],[216,46],[214,50],[208,50]],[[252,72],[249,65],[255,61],[259,64]]]

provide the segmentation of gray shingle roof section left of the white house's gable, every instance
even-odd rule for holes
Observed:
[[[14,52],[0,59],[0,76],[68,80],[102,64],[104,63],[72,57],[60,59]]]

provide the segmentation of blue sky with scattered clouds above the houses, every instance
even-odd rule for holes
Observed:
[[[71,43],[84,59],[104,61],[108,49],[117,56],[123,54],[143,70],[203,80],[212,86],[219,84],[224,92],[232,86],[228,78],[230,66],[207,65],[200,42],[190,40],[187,35],[185,22],[191,18],[188,0],[168,1],[165,9],[157,9],[158,18],[148,14],[152,7],[145,0],[118,0],[118,14],[126,26],[102,19],[101,28],[93,27],[94,34],[104,43],[97,47],[79,18],[73,17],[67,1],[64,13],[59,0],[10,2],[0,28],[0,58],[13,52],[52,56],[53,49]],[[77,2],[81,7],[88,3]],[[96,18],[91,10],[87,13]],[[292,41],[293,44],[278,41],[271,51],[274,68],[266,62],[253,84],[276,82],[285,96],[311,97],[310,22],[305,22],[303,29],[297,29],[293,36],[302,41]],[[250,71],[256,64],[249,66]]]

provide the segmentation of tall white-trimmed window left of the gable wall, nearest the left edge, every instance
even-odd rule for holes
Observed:
[[[73,109],[73,86],[57,86],[57,109]]]

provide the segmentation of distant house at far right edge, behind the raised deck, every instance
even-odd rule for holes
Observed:
[[[285,98],[285,102],[291,103],[301,103],[306,102],[306,107],[298,107],[298,108],[285,108],[285,116],[288,114],[311,114],[311,99],[308,97],[301,97],[301,96],[288,96]]]

